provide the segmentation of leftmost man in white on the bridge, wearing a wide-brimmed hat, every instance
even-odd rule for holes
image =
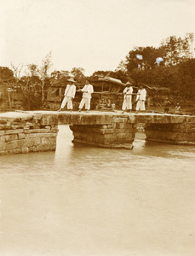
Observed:
[[[71,111],[73,109],[72,99],[74,98],[75,93],[76,93],[76,85],[74,84],[75,80],[74,79],[68,79],[67,81],[69,82],[69,84],[67,84],[67,86],[66,86],[64,99],[61,102],[61,106],[60,106],[60,109],[58,111],[61,111],[63,108],[65,108],[66,104],[67,104],[67,109],[70,109]]]

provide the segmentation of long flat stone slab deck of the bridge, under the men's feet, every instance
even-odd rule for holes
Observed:
[[[120,113],[117,112],[100,112],[90,111],[83,112],[69,112],[69,111],[15,111],[0,113],[1,119],[11,120],[28,120],[33,116],[40,116],[43,123],[46,124],[53,119],[54,123],[63,125],[104,125],[112,124],[113,118],[127,117],[129,123],[153,123],[153,124],[181,124],[190,122],[195,124],[195,116],[190,115],[176,115],[168,113]]]

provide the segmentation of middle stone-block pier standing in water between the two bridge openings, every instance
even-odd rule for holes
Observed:
[[[70,125],[73,143],[93,145],[100,148],[132,149],[136,125],[128,117],[112,117],[109,125]]]

